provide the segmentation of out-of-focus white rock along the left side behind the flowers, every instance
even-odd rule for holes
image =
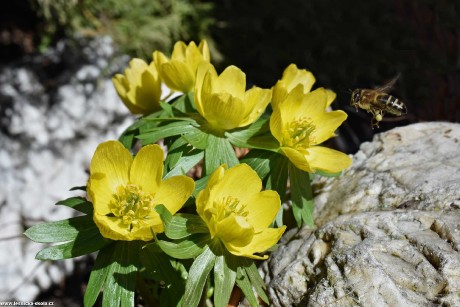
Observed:
[[[23,233],[73,214],[54,204],[78,195],[69,189],[86,184],[98,143],[133,121],[107,72],[109,62],[111,69],[127,62],[115,65],[111,41],[97,39],[78,56],[70,49],[61,43],[0,70],[0,301],[33,301],[72,271],[72,260],[35,260],[43,246]]]

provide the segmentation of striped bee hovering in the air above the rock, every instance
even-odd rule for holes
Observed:
[[[361,108],[373,115],[371,121],[372,129],[379,127],[379,122],[383,119],[385,113],[396,116],[407,113],[404,103],[388,94],[398,78],[399,75],[375,89],[356,89],[352,91],[351,106],[355,107],[356,111],[358,111],[358,108]]]

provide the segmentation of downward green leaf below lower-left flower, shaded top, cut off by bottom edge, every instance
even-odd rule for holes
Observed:
[[[103,306],[134,306],[140,247],[139,241],[115,242],[113,262],[104,284]]]

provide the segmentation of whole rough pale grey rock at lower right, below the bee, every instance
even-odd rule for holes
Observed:
[[[460,125],[365,143],[317,182],[316,230],[292,230],[262,271],[274,306],[460,306]]]

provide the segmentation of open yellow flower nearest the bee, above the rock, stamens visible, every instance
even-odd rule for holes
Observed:
[[[323,88],[305,94],[296,86],[270,117],[270,130],[282,153],[306,172],[338,173],[351,165],[346,154],[317,146],[335,136],[334,131],[347,118],[343,111],[326,112],[329,99]]]

